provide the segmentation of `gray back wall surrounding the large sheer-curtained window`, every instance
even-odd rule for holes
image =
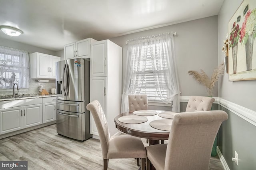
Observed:
[[[181,96],[207,96],[203,85],[198,84],[192,76],[188,75],[188,70],[204,70],[208,76],[218,65],[218,17],[211,16],[199,20],[183,22],[170,26],[164,26],[152,30],[146,30],[110,40],[121,46],[122,51],[122,77],[125,77],[127,49],[126,40],[161,34],[164,32],[176,32],[174,36],[176,63],[178,67],[178,77],[180,82]],[[123,79],[124,81],[124,79]],[[218,84],[214,88],[213,96],[218,96]]]

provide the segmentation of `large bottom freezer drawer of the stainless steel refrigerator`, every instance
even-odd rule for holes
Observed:
[[[88,113],[57,110],[57,133],[81,141],[91,138],[89,116]]]

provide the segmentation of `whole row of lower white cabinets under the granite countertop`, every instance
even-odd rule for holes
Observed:
[[[0,135],[55,120],[55,96],[0,101]]]

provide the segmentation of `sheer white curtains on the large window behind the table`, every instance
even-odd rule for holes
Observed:
[[[164,103],[172,102],[172,111],[180,112],[180,90],[172,34],[129,40],[125,75],[121,112],[128,112],[128,95],[139,94],[142,87],[145,87],[145,80],[150,79],[149,76],[153,77],[152,82],[160,100]]]

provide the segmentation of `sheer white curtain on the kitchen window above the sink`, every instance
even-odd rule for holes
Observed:
[[[28,52],[0,46],[0,88],[28,88],[29,68]]]

